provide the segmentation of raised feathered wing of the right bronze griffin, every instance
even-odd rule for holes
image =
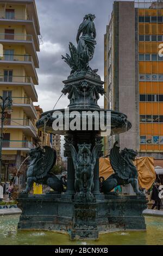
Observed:
[[[120,154],[120,148],[116,145],[114,145],[114,147],[110,150],[110,164],[118,177],[121,179],[129,179],[129,164]]]

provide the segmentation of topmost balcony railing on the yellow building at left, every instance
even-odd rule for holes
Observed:
[[[32,14],[18,11],[0,11],[0,19],[5,20],[32,20]]]

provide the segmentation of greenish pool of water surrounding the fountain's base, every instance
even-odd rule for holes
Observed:
[[[99,234],[97,241],[71,241],[53,231],[17,230],[19,215],[0,217],[0,245],[163,245],[162,217],[146,216],[146,231],[113,231]]]

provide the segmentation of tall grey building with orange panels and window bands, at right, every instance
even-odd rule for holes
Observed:
[[[105,108],[128,115],[132,127],[105,138],[105,155],[118,140],[139,156],[163,153],[163,1],[114,2],[104,35]]]

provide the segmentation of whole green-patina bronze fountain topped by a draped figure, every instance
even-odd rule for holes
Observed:
[[[62,56],[71,68],[70,76],[63,81],[64,88],[62,88],[62,93],[68,95],[70,100],[68,105],[68,118],[70,121],[70,114],[73,111],[78,111],[80,119],[83,111],[96,112],[98,118],[100,113],[103,112],[106,125],[106,116],[109,112],[111,114],[111,135],[114,135],[128,131],[131,128],[131,124],[125,114],[102,109],[98,106],[99,95],[104,95],[105,92],[103,88],[104,82],[101,81],[101,77],[97,74],[98,70],[91,69],[89,64],[93,58],[96,45],[94,19],[95,15],[85,15],[77,33],[77,47],[70,43],[70,55]],[[65,119],[67,118],[65,109],[58,109],[57,111],[63,116],[63,123],[65,124]],[[22,215],[18,222],[18,229],[59,231],[70,234],[72,240],[96,240],[99,232],[109,232],[111,230],[145,230],[146,225],[142,211],[146,209],[147,201],[145,196],[140,195],[139,190],[136,188],[137,173],[133,169],[131,161],[135,152],[127,151],[126,149],[126,155],[124,154],[123,160],[128,161],[129,168],[125,169],[128,167],[126,164],[125,168],[121,169],[124,152],[122,151],[123,153],[120,155],[117,149],[112,149],[112,164],[116,174],[110,180],[104,182],[102,185],[103,193],[101,193],[99,188],[99,158],[103,155],[103,145],[101,130],[95,129],[95,120],[97,119],[95,117],[92,119],[91,131],[88,129],[87,123],[86,130],[72,131],[69,127],[67,130],[54,131],[52,127],[53,121],[57,119],[54,112],[55,110],[43,113],[36,126],[43,132],[65,136],[64,156],[67,157],[66,192],[42,195],[20,194],[17,200],[18,206],[22,209]],[[51,160],[49,160],[49,163]],[[46,157],[43,156],[41,161],[42,164],[47,163]],[[119,163],[120,166],[118,166]],[[35,167],[37,169],[34,162],[31,165],[31,170],[29,167],[29,173],[33,172]],[[33,181],[42,182],[42,179],[46,179],[45,184],[47,184],[48,179],[51,179],[54,184],[50,183],[48,185],[51,185],[54,190],[63,191],[61,181],[56,180],[54,176],[47,176],[51,175],[48,163],[47,167],[47,169],[41,169],[40,167],[39,172],[41,170],[43,175],[41,177],[35,176],[33,173],[29,175],[26,193],[30,190]],[[120,179],[123,182],[124,180],[127,180],[128,183],[130,182],[137,196],[106,195],[105,193],[115,186],[115,181],[118,184]]]

